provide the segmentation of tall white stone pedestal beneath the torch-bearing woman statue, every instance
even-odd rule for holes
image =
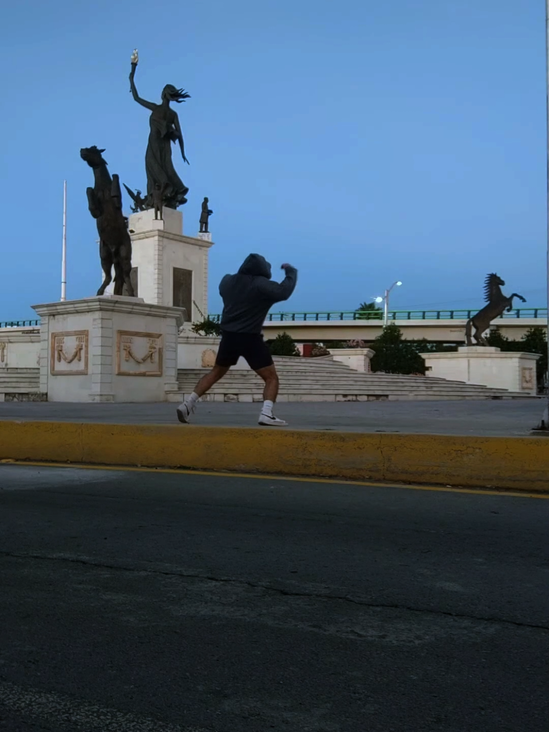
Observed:
[[[183,214],[163,209],[163,219],[154,210],[131,214],[132,284],[135,295],[145,302],[187,311],[187,321],[202,320],[208,313],[208,251],[211,234],[184,236]],[[113,283],[106,292],[113,293]]]

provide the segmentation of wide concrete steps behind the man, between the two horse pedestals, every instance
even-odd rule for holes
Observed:
[[[334,402],[370,400],[446,400],[529,398],[519,392],[447,381],[430,376],[362,373],[334,361],[275,357],[280,376],[281,402]],[[189,395],[208,369],[179,370],[179,397]],[[173,399],[175,395],[171,395]],[[263,399],[263,382],[250,370],[231,370],[203,397],[209,401],[255,402]]]

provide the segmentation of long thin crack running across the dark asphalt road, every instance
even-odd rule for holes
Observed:
[[[449,618],[460,618],[464,620],[476,620],[487,623],[496,623],[501,625],[511,625],[520,628],[531,628],[534,630],[549,630],[549,625],[540,625],[534,623],[522,623],[515,620],[507,620],[503,618],[496,618],[493,616],[475,616],[468,615],[466,613],[452,613],[449,610],[429,610],[427,608],[415,608],[411,605],[399,605],[398,603],[386,603],[386,602],[370,602],[360,597],[352,597],[351,595],[335,594],[333,592],[306,592],[306,591],[294,591],[285,589],[283,587],[275,587],[268,583],[253,582],[251,580],[239,580],[231,577],[215,577],[214,575],[203,574],[201,572],[185,572],[182,569],[172,568],[168,569],[152,569],[150,567],[127,567],[122,563],[119,564],[106,564],[102,561],[91,559],[90,557],[83,556],[67,556],[67,555],[56,555],[56,554],[31,554],[31,553],[19,553],[19,552],[7,552],[0,551],[0,556],[13,558],[13,559],[37,559],[42,561],[63,561],[70,562],[72,564],[82,564],[86,567],[97,567],[99,569],[115,569],[121,572],[142,572],[143,574],[150,575],[163,575],[166,577],[182,577],[187,579],[206,580],[215,583],[227,583],[234,585],[241,585],[252,587],[253,589],[263,589],[265,591],[280,594],[286,597],[310,597],[317,598],[318,600],[338,600],[340,602],[350,602],[353,605],[361,605],[366,608],[378,608],[385,610],[407,610],[411,613],[424,613],[427,615],[438,615],[446,616]]]

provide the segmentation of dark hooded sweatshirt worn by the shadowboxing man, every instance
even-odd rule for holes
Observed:
[[[281,283],[271,281],[271,265],[261,254],[250,254],[236,275],[225,275],[219,286],[223,298],[221,329],[230,333],[261,333],[275,302],[294,292],[297,270],[286,269]]]

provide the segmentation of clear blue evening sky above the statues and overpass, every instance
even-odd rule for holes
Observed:
[[[217,282],[250,251],[299,285],[287,310],[352,310],[403,280],[392,307],[482,305],[485,274],[545,305],[542,0],[18,0],[0,64],[0,320],[59,299],[62,182],[67,297],[101,282],[91,171],[146,187],[141,96],[166,83],[190,166],[184,229],[214,209]],[[129,212],[126,196],[124,208]]]

